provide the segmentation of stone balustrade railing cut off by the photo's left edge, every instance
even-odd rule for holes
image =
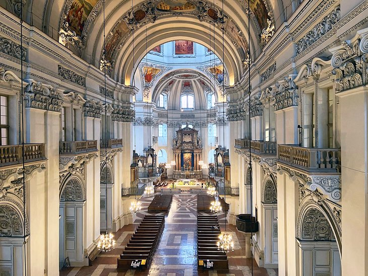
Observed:
[[[45,144],[25,144],[24,162],[32,162],[46,159]],[[8,166],[23,163],[22,145],[1,146],[0,166]]]

